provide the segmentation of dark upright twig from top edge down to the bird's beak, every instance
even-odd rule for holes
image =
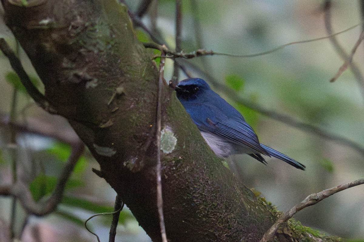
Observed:
[[[181,0],[176,0],[176,50],[175,52],[181,52],[181,33],[182,33],[182,3]],[[171,85],[174,88],[178,84],[179,79],[179,65],[178,60],[173,59],[173,75]]]

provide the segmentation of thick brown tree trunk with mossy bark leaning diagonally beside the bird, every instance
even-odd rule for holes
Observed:
[[[5,19],[100,164],[96,171],[154,242],[158,70],[116,0],[2,0]],[[18,4],[16,4],[18,3]],[[259,241],[277,219],[207,147],[174,91],[163,86],[162,186],[170,241]],[[294,237],[288,226],[280,241]],[[300,238],[310,236],[299,233]]]

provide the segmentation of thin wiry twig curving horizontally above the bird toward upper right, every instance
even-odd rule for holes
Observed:
[[[354,26],[351,26],[350,28],[347,28],[347,29],[345,29],[345,30],[343,30],[341,32],[335,33],[335,34],[331,34],[329,36],[314,38],[314,39],[310,39],[310,40],[294,41],[294,42],[290,42],[290,43],[278,46],[276,48],[267,50],[265,52],[260,52],[260,53],[255,53],[255,54],[246,54],[246,55],[220,53],[220,52],[214,52],[212,50],[208,51],[208,50],[205,50],[205,49],[198,49],[198,50],[195,50],[193,52],[185,53],[183,51],[175,52],[173,50],[170,50],[166,46],[161,46],[161,45],[156,44],[156,43],[143,43],[143,45],[145,46],[145,48],[153,48],[153,49],[163,50],[165,52],[165,56],[162,56],[162,57],[166,57],[166,58],[191,59],[191,58],[195,58],[195,57],[199,57],[199,56],[213,56],[213,55],[247,58],[247,57],[256,57],[256,56],[263,56],[263,55],[266,55],[266,54],[270,54],[270,53],[276,52],[277,50],[283,49],[283,48],[285,48],[287,46],[290,46],[290,45],[304,44],[304,43],[309,43],[309,42],[313,42],[313,41],[319,41],[319,40],[324,40],[324,39],[327,39],[327,38],[331,38],[332,36],[336,36],[338,34],[347,32],[347,31],[349,31],[349,30],[351,30],[353,28],[356,28],[357,26],[359,26],[359,24],[356,24]]]

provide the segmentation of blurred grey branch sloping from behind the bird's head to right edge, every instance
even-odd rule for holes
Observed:
[[[251,108],[252,110],[255,110],[263,115],[266,115],[269,118],[278,120],[285,124],[288,124],[289,126],[297,128],[298,130],[312,133],[312,134],[318,135],[324,139],[332,140],[332,141],[335,141],[336,143],[351,147],[352,149],[355,149],[357,152],[359,152],[362,156],[364,156],[364,147],[361,146],[360,144],[358,144],[352,140],[349,140],[343,136],[330,134],[329,132],[327,132],[319,127],[298,121],[297,119],[290,117],[288,115],[280,114],[279,112],[276,112],[273,110],[268,110],[267,108],[264,108],[264,107],[260,106],[259,104],[253,103],[249,99],[242,98],[235,91],[233,91],[229,87],[221,84],[214,77],[212,77],[209,73],[202,71],[198,66],[194,65],[193,63],[187,62],[185,60],[181,60],[181,62],[183,62],[183,64],[189,65],[191,68],[193,68],[195,71],[197,71],[200,76],[201,75],[205,76],[206,79],[209,80],[213,86],[215,86],[217,89],[219,89],[220,91],[225,93],[232,101],[243,104],[244,106]]]

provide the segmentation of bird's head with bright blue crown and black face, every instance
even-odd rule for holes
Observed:
[[[206,90],[210,90],[210,87],[200,78],[185,79],[175,88],[177,98],[181,102],[198,99],[198,97]]]

